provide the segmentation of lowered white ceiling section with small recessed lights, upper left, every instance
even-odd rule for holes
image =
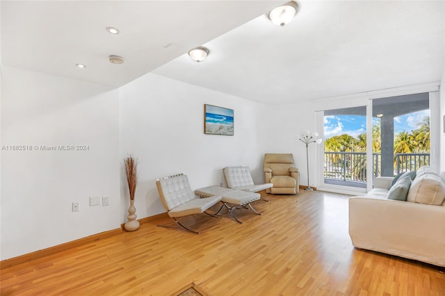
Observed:
[[[1,63],[120,86],[275,1],[1,1]],[[119,35],[106,31],[120,29]],[[123,65],[108,62],[122,56]],[[86,64],[85,69],[75,67]]]

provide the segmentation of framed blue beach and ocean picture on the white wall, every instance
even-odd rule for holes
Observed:
[[[234,110],[204,104],[204,133],[234,135]]]

